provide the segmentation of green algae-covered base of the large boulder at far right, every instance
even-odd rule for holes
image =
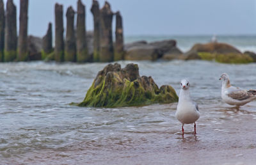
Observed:
[[[248,54],[241,53],[211,53],[211,52],[198,52],[201,59],[218,63],[253,63],[253,58]]]

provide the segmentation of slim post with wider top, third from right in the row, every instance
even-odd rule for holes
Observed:
[[[100,9],[96,0],[92,2],[91,12],[93,14],[93,61],[99,61],[100,54]]]

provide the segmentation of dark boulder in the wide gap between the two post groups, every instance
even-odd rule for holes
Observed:
[[[28,36],[28,59],[29,61],[41,60],[42,38]]]

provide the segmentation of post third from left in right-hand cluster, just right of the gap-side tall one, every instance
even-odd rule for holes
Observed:
[[[72,6],[68,7],[67,17],[67,31],[65,42],[65,61],[76,61],[76,37],[74,31],[74,16],[75,12]]]

